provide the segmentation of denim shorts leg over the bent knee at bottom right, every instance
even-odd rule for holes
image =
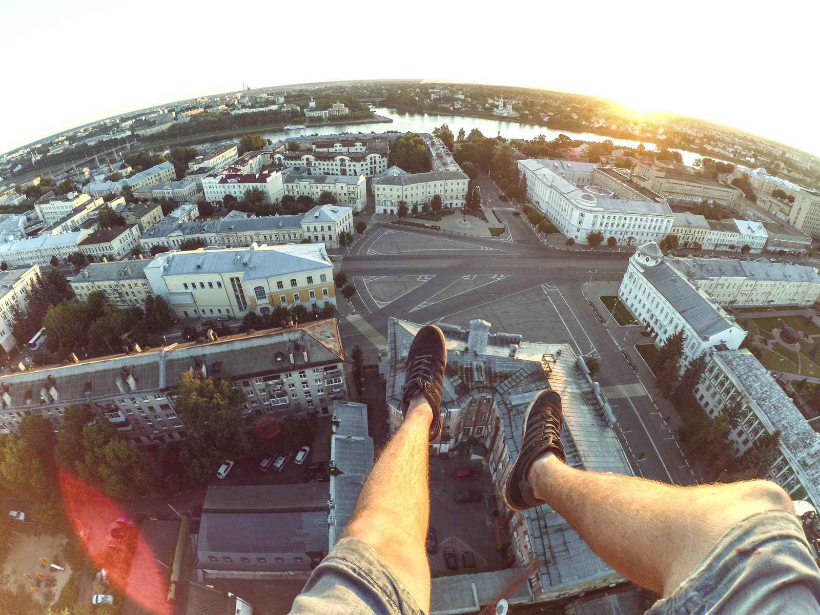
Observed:
[[[820,570],[791,512],[745,518],[722,536],[695,572],[646,615],[820,613]]]

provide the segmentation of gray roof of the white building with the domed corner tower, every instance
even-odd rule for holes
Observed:
[[[735,326],[734,319],[719,312],[716,303],[700,294],[666,262],[646,267],[644,277],[675,307],[681,317],[700,335],[709,339]]]

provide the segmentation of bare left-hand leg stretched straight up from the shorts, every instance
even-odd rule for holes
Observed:
[[[393,569],[416,604],[430,612],[430,564],[425,540],[430,522],[428,441],[433,412],[424,394],[367,476],[343,538],[370,544]]]

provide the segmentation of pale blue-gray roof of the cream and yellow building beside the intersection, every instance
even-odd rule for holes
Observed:
[[[239,222],[239,221],[238,221]],[[332,267],[323,244],[222,248],[167,253],[163,276],[242,271],[244,280],[257,280],[285,273]]]

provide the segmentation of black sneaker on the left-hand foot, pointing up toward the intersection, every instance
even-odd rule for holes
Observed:
[[[423,391],[430,408],[433,421],[430,423],[430,442],[441,434],[441,386],[444,382],[444,367],[447,367],[447,344],[439,327],[421,327],[412,340],[408,353],[407,375],[402,387],[402,413],[406,417],[410,400]]]

